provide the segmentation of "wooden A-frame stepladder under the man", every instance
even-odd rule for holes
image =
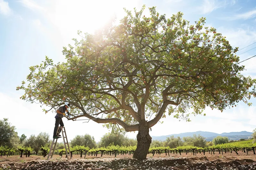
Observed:
[[[72,159],[72,157],[71,157],[71,155],[70,155],[69,145],[68,145],[68,147],[67,147],[67,145],[66,145],[66,144],[68,144],[68,138],[67,138],[67,134],[66,134],[65,127],[64,127],[64,126],[59,126],[59,127],[58,127],[58,129],[57,129],[57,135],[56,135],[57,137],[59,136],[60,131],[62,132],[63,142],[64,142],[64,146],[65,146],[65,150],[66,150],[66,156],[67,156],[68,159]],[[66,139],[66,140],[65,140],[65,139]],[[53,152],[54,152],[55,147],[56,147],[56,144],[57,144],[57,140],[58,140],[58,139],[56,139],[56,141],[55,141],[55,139],[52,140],[52,145],[51,145],[51,148],[50,148],[50,151],[49,151],[47,160],[50,158],[50,155],[51,155],[51,158],[52,158]],[[52,149],[53,144],[54,144],[54,147],[53,147],[53,149]],[[50,158],[50,159],[51,159],[51,158]]]

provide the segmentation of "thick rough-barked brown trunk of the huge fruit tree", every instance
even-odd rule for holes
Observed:
[[[145,120],[140,121],[139,132],[137,134],[138,144],[132,156],[134,159],[146,159],[151,144],[151,139],[152,137],[149,135],[148,123]]]

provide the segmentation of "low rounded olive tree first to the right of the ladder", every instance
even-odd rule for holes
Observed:
[[[76,135],[74,139],[71,140],[70,145],[76,146],[76,145],[81,145],[81,146],[88,146],[89,148],[96,148],[96,142],[94,140],[94,137],[92,137],[89,134],[83,135]]]

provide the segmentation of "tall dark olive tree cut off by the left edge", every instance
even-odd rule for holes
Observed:
[[[0,120],[0,146],[16,147],[20,142],[20,140],[17,139],[16,128],[7,121],[7,118]]]

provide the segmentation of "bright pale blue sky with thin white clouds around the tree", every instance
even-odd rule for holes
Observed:
[[[227,37],[232,47],[242,49],[237,54],[240,61],[256,55],[256,1],[254,0],[0,0],[0,119],[8,118],[16,127],[18,136],[38,135],[46,132],[52,137],[56,115],[45,114],[39,104],[20,99],[23,91],[16,91],[22,80],[26,80],[29,67],[40,64],[45,56],[54,63],[64,62],[63,47],[72,44],[77,30],[94,33],[111,18],[118,22],[125,16],[123,8],[140,10],[146,5],[144,14],[149,16],[148,7],[170,18],[178,11],[183,18],[194,21],[206,17],[205,26],[214,27]],[[254,43],[254,44],[253,44]],[[252,45],[251,45],[252,44]],[[252,49],[254,48],[254,49]],[[252,50],[250,50],[252,49]],[[250,51],[248,51],[250,50]],[[245,76],[256,78],[256,57],[244,61]],[[248,107],[239,102],[236,107],[219,110],[206,108],[203,115],[191,115],[191,122],[166,116],[164,123],[158,122],[149,132],[151,136],[178,134],[183,132],[209,131],[252,132],[256,128],[256,100]],[[68,140],[76,135],[89,134],[96,142],[108,133],[102,124],[89,121],[63,120]],[[137,131],[128,132],[135,138]]]

